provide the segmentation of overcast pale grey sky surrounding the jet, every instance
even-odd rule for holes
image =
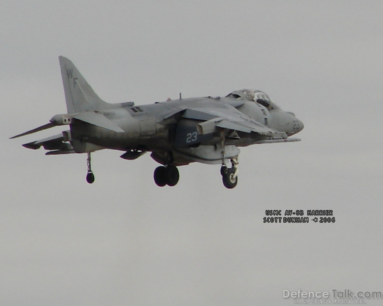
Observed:
[[[381,1],[8,1],[0,10],[2,305],[291,305],[282,290],[383,291]],[[45,156],[9,140],[66,111],[58,56],[137,105],[263,90],[298,143],[179,168],[119,151]],[[267,209],[336,222],[263,223]],[[368,300],[381,305],[382,300]]]

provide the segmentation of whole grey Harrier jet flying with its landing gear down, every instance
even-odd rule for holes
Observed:
[[[242,89],[226,97],[180,98],[135,106],[133,102],[109,104],[101,100],[73,63],[60,56],[67,114],[50,123],[16,135],[20,137],[56,125],[69,125],[59,135],[26,143],[46,155],[87,153],[87,182],[94,181],[90,153],[101,149],[125,151],[134,160],[147,151],[162,164],[154,171],[158,186],[178,182],[177,166],[192,162],[221,164],[223,184],[238,181],[239,146],[294,142],[288,138],[303,129],[301,120],[280,109],[262,91]],[[231,161],[231,168],[226,164]]]

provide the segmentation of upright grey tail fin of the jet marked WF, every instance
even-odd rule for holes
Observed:
[[[63,56],[59,62],[68,113],[105,109],[108,103],[97,96],[75,65]]]

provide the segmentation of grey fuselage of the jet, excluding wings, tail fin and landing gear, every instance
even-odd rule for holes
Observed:
[[[214,109],[236,109],[231,104],[235,105],[237,99],[235,98],[187,98],[177,99],[172,101],[165,101],[154,104],[146,104],[140,106],[123,106],[123,104],[115,104],[115,108],[108,108],[104,111],[98,111],[103,114],[107,119],[113,121],[116,125],[124,130],[123,133],[116,133],[96,125],[88,124],[82,121],[72,122],[70,125],[72,139],[77,139],[82,142],[90,142],[104,148],[111,148],[117,150],[128,150],[140,148],[147,151],[157,150],[170,150],[174,146],[180,146],[180,143],[175,143],[177,135],[176,122],[172,125],[172,119],[165,119],[170,114],[182,112],[190,107],[193,108],[214,108]],[[113,104],[112,104],[113,105]],[[282,111],[281,109],[268,110],[266,107],[254,103],[252,101],[244,101],[244,103],[237,107],[237,111],[242,112],[247,117],[254,119],[272,129],[283,131],[288,136],[293,135],[303,129],[301,120],[293,116],[289,112]],[[158,123],[164,120],[164,124]],[[182,125],[182,120],[187,125],[187,120],[191,120],[191,127],[202,120],[181,118],[178,122],[178,127]],[[170,124],[169,124],[170,123]],[[185,135],[177,135],[177,137],[198,137],[193,131],[185,130]],[[189,136],[188,136],[189,134]],[[191,134],[191,136],[190,136]],[[241,135],[242,134],[242,135]],[[241,135],[241,136],[240,136]],[[201,142],[200,145],[210,145],[217,143],[219,135],[212,135]],[[247,146],[259,140],[265,139],[262,135],[257,133],[241,133],[239,138],[228,139],[226,144],[236,146]],[[191,143],[190,146],[195,144]],[[182,146],[182,145],[181,145]]]

